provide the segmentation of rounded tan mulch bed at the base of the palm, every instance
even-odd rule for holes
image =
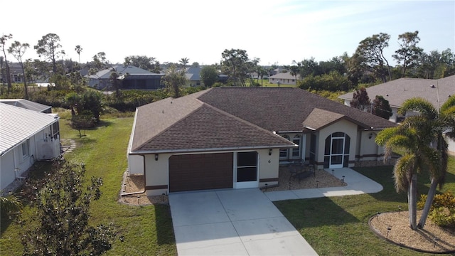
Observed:
[[[421,213],[417,211],[417,220]],[[407,211],[377,214],[370,219],[370,228],[381,238],[402,247],[430,253],[455,252],[454,228],[441,228],[427,219],[423,229],[412,230]]]

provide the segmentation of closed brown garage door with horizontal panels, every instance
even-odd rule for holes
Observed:
[[[232,188],[233,154],[188,154],[169,158],[169,191]]]

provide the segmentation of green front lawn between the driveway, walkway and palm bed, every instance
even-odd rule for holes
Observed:
[[[407,210],[406,194],[395,191],[392,166],[355,170],[378,181],[384,190],[358,196],[278,201],[275,205],[319,255],[427,255],[385,242],[368,226],[369,218],[375,213],[397,211],[398,206]],[[420,175],[418,191],[427,193],[428,188],[428,176]],[[446,186],[440,192],[454,188],[452,157]]]

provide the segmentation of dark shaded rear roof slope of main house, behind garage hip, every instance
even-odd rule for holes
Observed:
[[[343,114],[353,122],[373,129],[395,125],[299,88],[218,87],[208,90],[199,100],[275,132],[304,130],[303,122],[315,108]]]

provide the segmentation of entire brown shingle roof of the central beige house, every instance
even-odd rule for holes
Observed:
[[[394,123],[298,88],[216,87],[137,108],[132,151],[293,146],[274,132],[321,129],[338,119],[365,129]]]

